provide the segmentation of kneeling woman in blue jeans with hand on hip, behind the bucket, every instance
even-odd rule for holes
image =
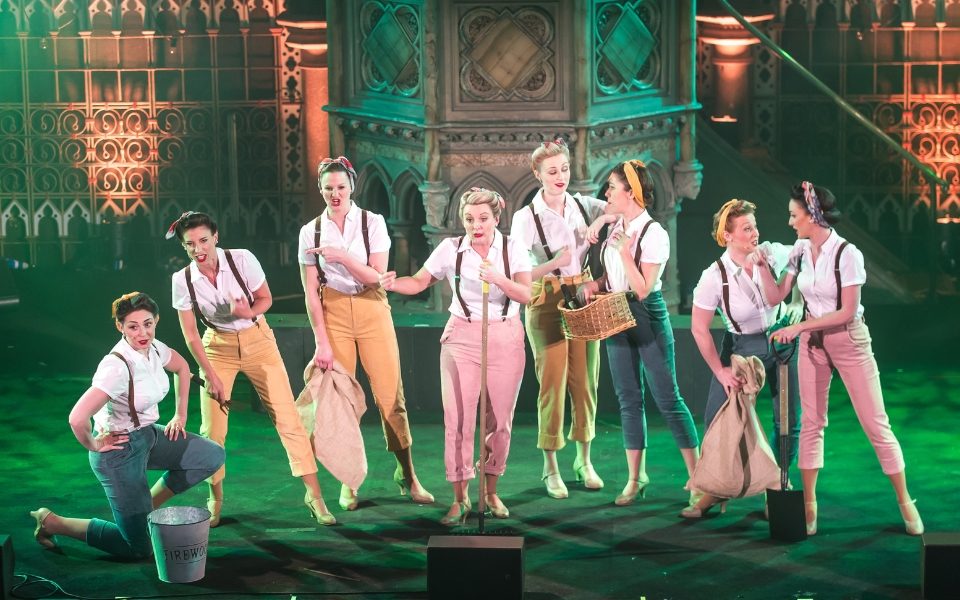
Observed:
[[[62,534],[116,556],[146,558],[152,554],[150,511],[223,464],[223,448],[186,431],[190,367],[176,350],[154,339],[159,312],[157,303],[140,292],[114,301],[122,338],[100,361],[93,385],[70,412],[70,427],[90,451],[90,467],[114,520],[69,518],[38,508],[30,515],[37,521],[34,537],[45,548],[55,548],[54,536]],[[157,404],[170,390],[165,371],[178,377],[177,408],[161,427]],[[165,470],[152,488],[147,469]]]

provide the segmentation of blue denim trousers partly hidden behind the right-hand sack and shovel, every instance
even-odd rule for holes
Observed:
[[[756,356],[763,363],[766,372],[767,387],[770,389],[771,405],[773,407],[773,428],[768,436],[770,447],[773,449],[777,462],[780,462],[780,369],[777,363],[777,357],[770,348],[770,343],[765,333],[737,335],[727,332],[723,336],[723,342],[720,347],[720,362],[724,366],[730,366],[730,355],[739,354],[740,356]],[[800,446],[800,384],[797,379],[797,359],[799,354],[794,352],[790,360],[787,361],[787,418],[788,418],[788,462],[792,464],[797,458],[797,449]],[[716,377],[710,378],[710,391],[707,393],[707,406],[704,410],[703,420],[706,428],[710,427],[713,418],[717,416],[717,411],[727,400],[727,392],[717,381]],[[783,465],[780,465],[783,466]]]

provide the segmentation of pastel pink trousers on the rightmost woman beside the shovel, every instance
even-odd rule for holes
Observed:
[[[817,333],[813,333],[815,338]],[[797,466],[823,468],[823,432],[827,427],[830,380],[836,368],[883,472],[893,475],[903,471],[903,451],[883,407],[880,371],[873,357],[870,330],[861,319],[856,319],[845,326],[823,330],[822,334],[822,348],[810,345],[810,333],[800,336],[798,376],[803,414]]]

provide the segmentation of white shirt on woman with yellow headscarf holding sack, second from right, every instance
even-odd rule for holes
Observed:
[[[761,246],[768,250],[768,264],[773,269],[775,277],[779,277],[786,267],[791,246],[771,242],[764,242]],[[723,278],[720,276],[720,268],[716,262],[703,270],[700,281],[693,290],[694,306],[711,313],[719,309],[727,331],[731,333],[764,333],[777,321],[780,305],[771,306],[763,293],[763,280],[760,277],[762,266],[754,268],[753,277],[748,277],[743,267],[730,258],[729,250],[723,253],[720,261],[727,272],[730,312],[740,326],[740,331],[734,329],[733,324],[730,323],[730,316],[726,313],[723,303]]]

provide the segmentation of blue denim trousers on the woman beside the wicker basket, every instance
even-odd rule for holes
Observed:
[[[677,387],[673,328],[663,295],[651,292],[644,300],[631,299],[629,304],[636,326],[606,341],[610,376],[620,402],[623,446],[627,450],[647,447],[646,379],[677,447],[696,448],[700,445],[697,428]]]

